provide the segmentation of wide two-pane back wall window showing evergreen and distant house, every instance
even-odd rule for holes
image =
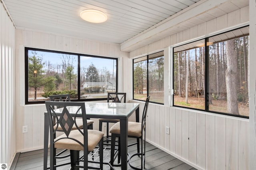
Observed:
[[[44,103],[50,95],[71,100],[106,100],[117,91],[117,59],[25,48],[26,104]]]

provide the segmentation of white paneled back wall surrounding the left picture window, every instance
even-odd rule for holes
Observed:
[[[16,76],[16,94],[19,94],[16,98],[17,152],[41,149],[44,141],[43,127],[44,111],[46,111],[45,105],[24,105],[24,47],[115,57],[119,58],[118,69],[127,69],[127,64],[123,63],[130,63],[130,61],[128,61],[130,60],[128,53],[120,51],[119,44],[101,43],[50,33],[16,29],[16,66],[18,70],[18,76]],[[126,76],[126,74],[131,73],[118,71],[118,89],[121,91],[128,90],[128,86],[126,86],[126,84],[128,84],[127,80],[122,80],[122,77]],[[123,84],[125,85],[123,86]],[[130,96],[128,100],[131,98],[132,96]],[[28,133],[22,133],[21,129],[24,125],[28,125]],[[94,128],[98,128],[97,119],[95,119]]]

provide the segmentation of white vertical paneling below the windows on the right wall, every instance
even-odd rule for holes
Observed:
[[[249,170],[248,132],[248,119],[148,105],[146,140],[199,170]]]

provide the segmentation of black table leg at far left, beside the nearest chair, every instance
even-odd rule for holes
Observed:
[[[47,170],[48,158],[49,120],[47,113],[44,113],[44,170]]]

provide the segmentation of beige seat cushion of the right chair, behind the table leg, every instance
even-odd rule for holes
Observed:
[[[120,135],[120,122],[115,123],[109,130],[110,133]],[[128,121],[128,135],[141,137],[141,123]]]

